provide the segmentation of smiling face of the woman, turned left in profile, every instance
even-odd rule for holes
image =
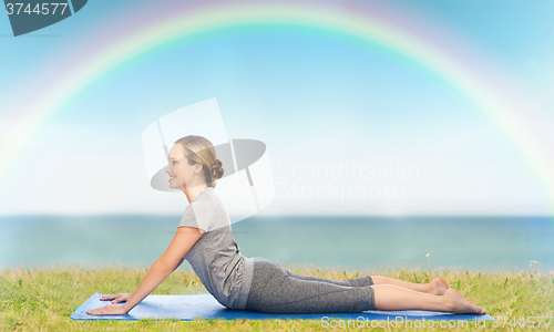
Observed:
[[[186,180],[187,188],[191,187],[194,178],[202,172],[202,165],[188,165],[188,159],[185,158],[185,149],[181,144],[175,144],[170,151],[170,164],[165,172],[170,176],[170,188],[184,190],[183,176]]]

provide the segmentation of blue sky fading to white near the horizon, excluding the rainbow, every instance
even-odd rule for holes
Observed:
[[[160,1],[160,6],[171,1]],[[329,1],[334,2],[334,1]],[[335,1],[336,2],[336,1]],[[113,2],[111,2],[113,3]],[[0,18],[0,128],[29,82],[70,61],[99,22],[148,1],[90,1],[74,17],[13,38]],[[522,87],[535,131],[554,138],[552,1],[387,1],[425,20]],[[113,33],[117,33],[114,31]],[[184,195],[148,188],[141,135],[156,118],[216,97],[232,138],[263,141],[277,197],[267,214],[543,215],[545,193],[513,144],[452,85],[391,51],[337,33],[279,27],[230,30],[163,48],[82,91],[41,128],[2,188],[0,214],[168,212]],[[530,107],[531,108],[531,107]],[[9,136],[0,135],[9,143]],[[554,141],[551,141],[554,142]],[[546,144],[545,144],[546,146]],[[310,167],[417,167],[418,176],[358,184],[397,198],[294,195],[356,183],[308,178]],[[300,178],[285,176],[296,167]],[[399,189],[400,190],[400,189]]]

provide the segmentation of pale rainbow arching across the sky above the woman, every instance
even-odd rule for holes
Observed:
[[[29,115],[14,132],[17,139],[11,139],[3,152],[0,160],[0,188],[10,167],[21,158],[41,126],[61,112],[79,92],[114,69],[163,45],[183,42],[202,33],[236,27],[274,25],[338,32],[360,42],[397,52],[434,73],[497,125],[505,134],[504,138],[509,139],[527,162],[535,174],[536,184],[545,190],[547,200],[554,203],[551,160],[541,149],[541,144],[532,131],[523,125],[524,116],[510,100],[504,100],[505,93],[497,92],[496,85],[501,82],[489,82],[481,71],[485,65],[475,69],[473,61],[470,63],[456,59],[444,50],[440,41],[402,27],[403,23],[398,22],[398,18],[309,1],[220,1],[196,7],[184,3],[156,12],[143,11],[141,14],[141,19],[131,19],[132,25],[115,39],[99,41],[100,48],[88,48],[86,52],[83,52],[86,55],[80,58],[79,62],[66,66],[61,73],[52,73],[51,75],[58,77],[54,83],[43,90],[40,97],[32,103],[20,105]]]

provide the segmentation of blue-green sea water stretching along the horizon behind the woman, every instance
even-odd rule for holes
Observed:
[[[150,267],[181,216],[0,217],[0,269],[112,263]],[[233,224],[246,257],[371,273],[380,268],[554,270],[545,217],[252,217]],[[428,259],[425,255],[430,253]],[[181,270],[192,270],[185,261]]]

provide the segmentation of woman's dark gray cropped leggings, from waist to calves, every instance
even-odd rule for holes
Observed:
[[[246,310],[268,313],[334,313],[375,310],[373,280],[348,280],[296,274],[261,257],[254,258],[254,276]]]

